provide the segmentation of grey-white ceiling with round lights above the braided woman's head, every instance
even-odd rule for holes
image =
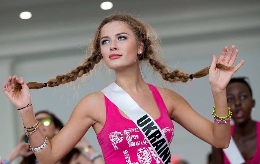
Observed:
[[[0,0],[0,58],[86,47],[102,18],[125,12],[155,28],[164,46],[229,37],[260,38],[260,1]],[[33,17],[21,20],[30,11]]]

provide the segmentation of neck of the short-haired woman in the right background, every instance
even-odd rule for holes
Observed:
[[[256,131],[256,122],[252,119],[245,121],[241,124],[235,123],[234,134],[239,136],[246,136]]]

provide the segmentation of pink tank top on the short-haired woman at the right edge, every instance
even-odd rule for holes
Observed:
[[[231,126],[231,136],[233,136],[233,133],[234,133],[234,127],[235,125],[232,125]],[[246,162],[251,162],[251,163],[254,163],[254,164],[259,164],[259,161],[260,161],[260,122],[256,122],[256,136],[257,136],[257,147],[256,147],[256,154],[253,158],[251,158],[250,160],[246,160]],[[226,155],[224,154],[224,152],[222,151],[223,153],[223,163],[224,164],[230,164],[228,158],[226,157]]]

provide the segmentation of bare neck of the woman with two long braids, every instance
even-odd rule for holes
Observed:
[[[126,92],[138,92],[147,87],[138,64],[123,70],[115,70],[115,75],[115,83]]]

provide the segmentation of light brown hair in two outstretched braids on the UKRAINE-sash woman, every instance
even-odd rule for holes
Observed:
[[[92,43],[92,55],[87,58],[81,66],[78,66],[74,70],[64,74],[58,75],[56,78],[51,78],[47,81],[49,87],[59,86],[60,84],[66,84],[70,81],[75,81],[77,78],[81,77],[83,74],[87,74],[91,72],[96,64],[100,62],[102,59],[101,50],[100,50],[100,33],[102,27],[110,22],[113,21],[122,21],[125,22],[128,27],[133,31],[135,34],[136,41],[144,43],[144,52],[139,56],[139,60],[145,60],[149,62],[149,64],[153,67],[155,71],[158,71],[161,77],[169,81],[170,83],[182,82],[185,83],[189,81],[190,76],[188,73],[179,71],[179,70],[172,70],[168,71],[167,66],[163,65],[155,56],[157,53],[155,49],[158,47],[160,41],[158,41],[158,37],[154,31],[154,29],[148,25],[145,25],[141,21],[136,20],[132,16],[127,14],[114,14],[107,18],[105,18],[99,25],[95,37]],[[149,30],[148,30],[149,29]],[[148,36],[148,31],[154,34],[154,37]],[[152,41],[151,41],[152,40]],[[209,74],[209,67],[203,68],[202,70],[193,74],[194,78],[204,77]],[[221,64],[217,64],[216,68],[230,70],[232,67],[227,67]],[[29,89],[41,89],[46,85],[44,83],[37,83],[37,82],[29,82],[27,83]],[[20,84],[16,84],[15,90],[21,90],[22,87]]]

